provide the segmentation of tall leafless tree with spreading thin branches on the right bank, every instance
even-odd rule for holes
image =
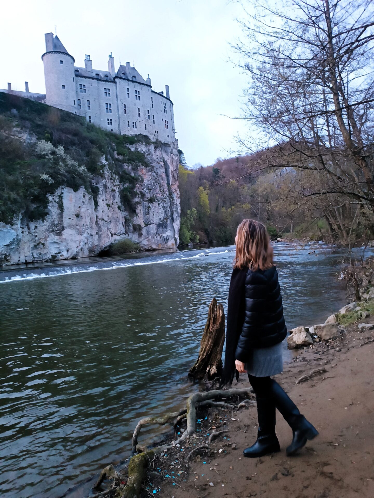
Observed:
[[[243,119],[251,133],[240,144],[261,150],[264,167],[309,171],[290,195],[308,198],[332,232],[347,238],[352,223],[372,230],[373,2],[276,4],[243,2],[245,41],[236,49],[250,76]]]

